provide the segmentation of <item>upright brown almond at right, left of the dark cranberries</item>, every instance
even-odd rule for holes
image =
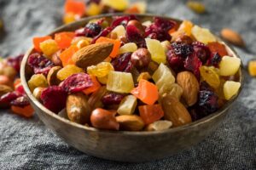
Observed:
[[[199,92],[199,83],[195,75],[189,71],[179,72],[177,74],[177,84],[183,88],[183,99],[186,104],[191,106],[197,101]]]

